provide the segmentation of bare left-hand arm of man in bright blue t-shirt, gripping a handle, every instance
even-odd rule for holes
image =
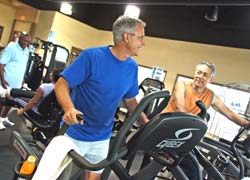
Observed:
[[[60,77],[57,80],[54,91],[57,101],[64,111],[63,120],[67,124],[79,123],[76,119],[76,115],[82,114],[82,112],[75,109],[75,106],[70,98],[70,87],[68,82],[63,77]]]

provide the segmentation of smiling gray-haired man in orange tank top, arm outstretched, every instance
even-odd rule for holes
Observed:
[[[215,76],[215,65],[203,61],[196,65],[194,80],[192,82],[177,82],[172,97],[163,112],[189,112],[199,113],[199,108],[195,102],[201,100],[206,108],[210,105],[215,111],[223,114],[229,120],[240,126],[245,126],[248,121],[231,111],[214,92],[207,88],[207,83],[211,82]]]

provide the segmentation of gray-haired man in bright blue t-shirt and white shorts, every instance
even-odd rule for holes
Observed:
[[[107,156],[120,101],[124,100],[129,112],[137,106],[138,65],[131,56],[137,56],[145,45],[144,28],[140,19],[119,17],[113,24],[114,45],[85,49],[56,83],[63,119],[70,125],[66,135],[91,163]],[[76,114],[83,114],[84,120],[79,123]],[[144,114],[140,120],[148,121]],[[98,180],[101,172],[87,172],[86,178]]]

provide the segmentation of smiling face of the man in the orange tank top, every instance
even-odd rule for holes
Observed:
[[[194,86],[203,88],[212,81],[211,69],[207,65],[197,66],[194,74]]]

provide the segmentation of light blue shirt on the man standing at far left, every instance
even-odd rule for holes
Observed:
[[[29,49],[22,48],[18,42],[9,44],[3,51],[0,64],[4,64],[4,79],[10,88],[21,88]]]

